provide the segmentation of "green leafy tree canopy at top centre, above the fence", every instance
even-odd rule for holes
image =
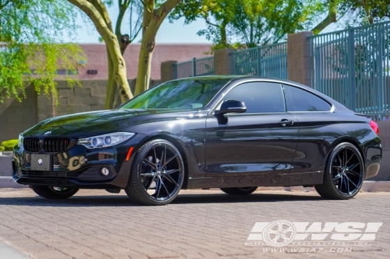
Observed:
[[[213,49],[223,49],[234,47],[232,38],[247,47],[277,42],[313,26],[321,8],[320,0],[186,0],[169,18],[185,17],[185,24],[204,19],[207,28],[198,35],[213,40]]]

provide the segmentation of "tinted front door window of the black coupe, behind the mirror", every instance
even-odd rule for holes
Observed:
[[[279,83],[253,82],[237,85],[224,101],[243,101],[247,106],[246,113],[285,112],[283,89]]]

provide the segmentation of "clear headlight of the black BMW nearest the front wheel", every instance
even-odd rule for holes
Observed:
[[[87,149],[99,149],[102,147],[112,147],[120,144],[132,137],[135,133],[116,132],[93,137],[80,138],[77,144],[83,145]]]

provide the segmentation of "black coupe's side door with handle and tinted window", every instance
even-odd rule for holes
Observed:
[[[243,176],[290,172],[299,140],[295,117],[286,112],[282,85],[251,82],[223,97],[243,101],[247,112],[208,115],[207,176]]]

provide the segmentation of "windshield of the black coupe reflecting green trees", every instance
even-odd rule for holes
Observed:
[[[120,109],[194,109],[207,105],[228,78],[187,78],[157,85]]]

